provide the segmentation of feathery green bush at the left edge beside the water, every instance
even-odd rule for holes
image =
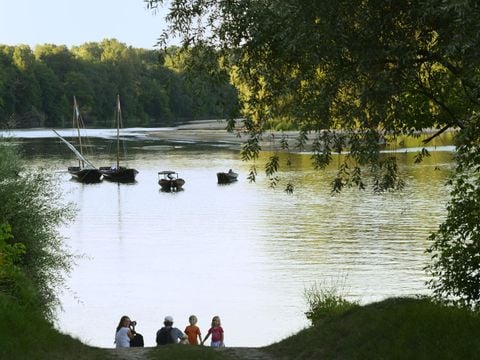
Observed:
[[[0,143],[0,293],[52,319],[59,286],[72,266],[58,226],[73,208],[56,180],[23,167],[12,143]]]

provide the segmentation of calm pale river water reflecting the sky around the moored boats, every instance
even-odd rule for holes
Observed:
[[[73,154],[51,132],[14,135],[30,166],[54,171],[78,209],[60,229],[81,256],[60,295],[57,327],[88,344],[113,347],[126,314],[152,346],[166,315],[183,330],[195,314],[204,334],[219,315],[227,346],[263,346],[308,325],[304,292],[315,284],[360,303],[428,293],[424,251],[445,215],[451,148],[432,149],[420,165],[401,150],[400,192],[331,196],[334,170],[312,169],[308,154],[291,154],[294,166],[280,173],[296,184],[287,194],[269,188],[261,171],[248,182],[251,164],[236,144],[134,136],[127,163],[137,182],[86,185],[65,172]],[[89,159],[109,165],[111,134],[97,135]],[[229,168],[239,181],[218,185],[216,172]],[[162,170],[177,171],[184,191],[160,191]]]

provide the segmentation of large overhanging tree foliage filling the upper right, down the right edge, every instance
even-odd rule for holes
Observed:
[[[452,200],[432,235],[428,271],[440,298],[480,303],[478,2],[145,1],[169,9],[161,43],[177,36],[185,49],[213,47],[225,60],[246,118],[245,159],[258,156],[265,125],[282,120],[301,130],[300,148],[310,137],[318,168],[334,153],[348,153],[334,190],[365,188],[369,173],[373,188],[383,191],[401,186],[396,159],[381,153],[383,144],[434,129],[427,143],[456,130]],[[272,158],[267,172],[276,168]]]

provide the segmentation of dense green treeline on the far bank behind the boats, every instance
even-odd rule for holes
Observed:
[[[136,49],[115,40],[71,49],[44,44],[0,45],[2,127],[68,127],[77,97],[89,127],[112,124],[116,94],[126,126],[172,125],[198,118],[224,118],[236,103],[226,72],[215,83],[209,71],[190,76],[189,56]]]

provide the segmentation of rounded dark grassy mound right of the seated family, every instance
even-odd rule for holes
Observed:
[[[477,314],[392,298],[325,318],[267,348],[277,359],[475,359]]]

